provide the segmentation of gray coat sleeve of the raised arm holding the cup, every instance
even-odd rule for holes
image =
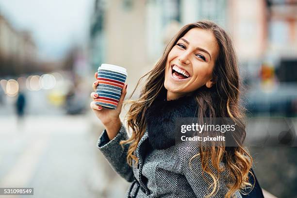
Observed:
[[[134,179],[134,174],[132,167],[128,165],[126,161],[129,144],[123,145],[124,149],[119,144],[121,140],[127,139],[128,135],[126,128],[121,122],[121,128],[112,140],[109,140],[106,130],[103,130],[99,136],[97,148],[99,148],[115,172],[117,172],[126,181],[132,182]]]

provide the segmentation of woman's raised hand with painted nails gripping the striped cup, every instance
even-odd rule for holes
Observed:
[[[96,88],[98,85],[97,76],[98,76],[98,73],[96,72],[95,73],[96,81],[93,83],[93,89],[95,92],[91,93],[91,98],[93,99],[93,101],[90,103],[90,106],[91,106],[91,109],[95,112],[95,115],[103,123],[103,125],[106,129],[107,135],[108,135],[109,139],[111,140],[115,137],[117,132],[119,132],[120,127],[121,127],[121,121],[120,121],[119,115],[122,111],[122,105],[123,105],[124,98],[127,94],[127,83],[124,84],[124,87],[122,89],[122,94],[121,94],[121,97],[119,99],[116,109],[106,109],[100,105],[97,105],[95,102],[95,99],[97,99],[99,97],[99,95],[96,93]]]

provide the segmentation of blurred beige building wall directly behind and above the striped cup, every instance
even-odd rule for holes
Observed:
[[[148,66],[144,0],[96,0],[90,54],[94,72],[101,63],[128,69],[128,84]]]

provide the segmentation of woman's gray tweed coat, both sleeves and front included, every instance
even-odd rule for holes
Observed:
[[[126,163],[129,146],[124,145],[123,150],[119,145],[121,140],[128,138],[123,123],[114,139],[106,142],[104,136],[107,136],[105,130],[99,136],[97,147],[113,169],[125,180],[132,182],[126,198],[203,198],[209,194],[208,183],[201,174],[199,157],[192,161],[192,169],[189,166],[190,158],[197,154],[198,150],[183,143],[166,149],[149,149],[146,130],[136,149],[139,166],[133,161],[131,167]],[[223,172],[223,175],[228,176],[228,173]],[[226,182],[220,179],[214,198],[224,198],[227,192]],[[234,197],[242,198],[239,191]]]

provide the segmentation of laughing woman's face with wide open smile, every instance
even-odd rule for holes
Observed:
[[[219,47],[212,32],[189,30],[170,50],[165,66],[167,100],[178,99],[203,85],[214,84],[212,72]]]

